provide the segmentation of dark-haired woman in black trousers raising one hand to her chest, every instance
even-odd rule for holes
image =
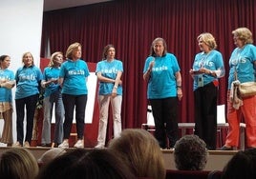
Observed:
[[[143,78],[148,82],[147,98],[152,106],[155,136],[160,148],[173,148],[178,140],[178,99],[181,100],[181,72],[174,54],[167,52],[164,39],[156,38],[145,61]],[[166,124],[166,125],[165,125]],[[169,147],[166,144],[166,134]]]

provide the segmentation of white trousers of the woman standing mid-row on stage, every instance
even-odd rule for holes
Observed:
[[[117,95],[98,95],[99,104],[99,125],[97,135],[97,145],[105,146],[106,133],[109,116],[109,103],[111,103],[114,125],[114,138],[118,137],[121,132],[121,101],[122,96]]]

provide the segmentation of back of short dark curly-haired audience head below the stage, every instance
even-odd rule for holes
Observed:
[[[174,147],[174,160],[177,169],[203,170],[208,157],[206,144],[197,135],[184,135]]]

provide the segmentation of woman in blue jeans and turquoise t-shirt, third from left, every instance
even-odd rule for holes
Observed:
[[[60,66],[63,62],[63,54],[56,51],[51,56],[51,61],[43,72],[43,80],[41,82],[44,92],[44,121],[42,129],[43,147],[58,146],[63,140],[63,119],[64,107],[62,102],[61,88],[58,84]],[[51,145],[51,125],[53,117],[53,105],[55,107],[55,125],[53,135],[53,145]]]

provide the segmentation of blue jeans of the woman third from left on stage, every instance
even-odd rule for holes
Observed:
[[[55,106],[55,127],[53,142],[60,144],[63,139],[64,106],[60,90],[54,91],[50,96],[44,98],[44,122],[42,130],[42,144],[51,143],[51,124],[53,117],[53,105]]]

